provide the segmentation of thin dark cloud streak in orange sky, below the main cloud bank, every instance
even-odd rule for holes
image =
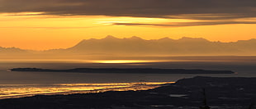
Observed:
[[[182,26],[225,25],[225,24],[256,24],[256,21],[199,21],[199,22],[179,22],[179,23],[165,23],[165,24],[113,23],[112,25],[141,25],[141,26],[182,27]]]

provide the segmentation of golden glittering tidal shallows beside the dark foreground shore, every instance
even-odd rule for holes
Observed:
[[[21,98],[34,95],[102,93],[106,91],[127,91],[154,89],[161,84],[173,82],[114,83],[114,84],[52,84],[52,85],[0,85],[0,99]]]

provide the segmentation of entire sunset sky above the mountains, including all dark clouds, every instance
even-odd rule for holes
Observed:
[[[83,39],[256,38],[255,0],[0,0],[0,47],[70,48]]]

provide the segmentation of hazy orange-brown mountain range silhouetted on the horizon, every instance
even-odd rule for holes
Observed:
[[[256,39],[239,40],[232,43],[211,42],[201,38],[152,39],[140,37],[117,39],[107,36],[104,39],[84,39],[71,48],[53,49],[43,52],[19,48],[0,48],[3,54],[29,56],[235,56],[256,55]],[[22,55],[21,55],[22,56]]]

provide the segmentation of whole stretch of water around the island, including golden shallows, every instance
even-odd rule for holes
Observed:
[[[182,68],[233,70],[235,74],[203,75],[217,77],[256,77],[256,61],[140,61],[138,63],[92,63],[88,61],[1,61],[0,99],[56,93],[98,93],[108,90],[153,89],[160,84],[197,75],[179,74],[97,74],[67,72],[11,72],[17,67],[49,69],[92,68]]]

